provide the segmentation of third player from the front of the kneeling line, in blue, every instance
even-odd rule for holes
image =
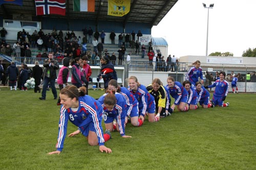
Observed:
[[[124,96],[127,105],[125,123],[127,123],[128,117],[130,117],[133,126],[141,126],[143,122],[139,118],[138,101],[134,98],[133,94],[131,94],[125,87],[120,87],[117,81],[113,79],[109,82],[109,90],[114,90]]]

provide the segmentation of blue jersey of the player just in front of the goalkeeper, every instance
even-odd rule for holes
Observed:
[[[150,93],[148,93],[145,86],[140,85],[136,92],[133,92],[130,87],[128,87],[128,90],[134,95],[134,98],[137,99],[139,103],[139,115],[144,116],[147,110],[151,110],[148,111],[149,113],[155,113],[155,111],[152,112],[153,109],[156,109],[155,99]]]

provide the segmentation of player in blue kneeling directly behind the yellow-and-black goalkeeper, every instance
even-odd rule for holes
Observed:
[[[188,93],[180,82],[175,82],[173,77],[167,78],[167,85],[169,94],[175,99],[172,108],[177,106],[178,111],[187,111],[189,109],[187,104]]]

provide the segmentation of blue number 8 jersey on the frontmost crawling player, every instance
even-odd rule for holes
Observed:
[[[60,107],[59,133],[56,144],[57,151],[62,151],[63,143],[67,134],[68,120],[79,128],[82,134],[89,132],[89,127],[97,134],[99,145],[104,145],[102,122],[102,107],[99,102],[89,95],[79,97],[79,106],[77,111],[71,108]],[[91,130],[91,129],[90,129]]]

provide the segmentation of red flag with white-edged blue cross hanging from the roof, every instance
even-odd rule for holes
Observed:
[[[35,0],[36,15],[66,15],[66,0]]]

